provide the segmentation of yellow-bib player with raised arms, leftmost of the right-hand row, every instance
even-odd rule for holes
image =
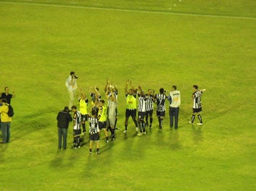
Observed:
[[[128,84],[131,85],[131,89],[128,91]],[[131,80],[128,80],[125,84],[125,96],[126,96],[126,111],[125,111],[125,131],[124,134],[127,133],[128,120],[131,116],[133,118],[133,122],[136,126],[136,131],[138,131],[138,123],[136,121],[136,93],[137,91],[134,89]]]

